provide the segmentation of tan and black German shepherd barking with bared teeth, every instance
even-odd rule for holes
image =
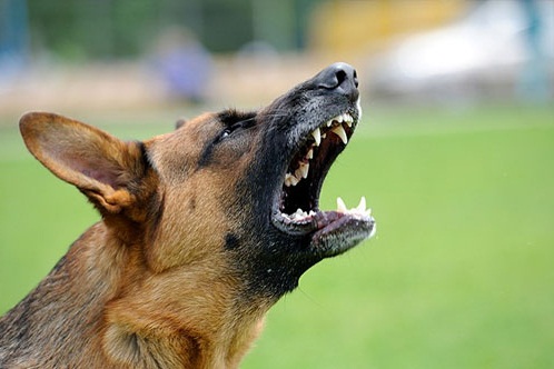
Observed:
[[[237,368],[308,268],[374,233],[365,200],[318,208],[359,117],[346,63],[146,141],[24,114],[29,151],[102,220],[1,318],[0,367]]]

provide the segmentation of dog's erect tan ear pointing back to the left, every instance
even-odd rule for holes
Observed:
[[[27,113],[19,127],[29,151],[79,188],[100,211],[117,213],[136,201],[131,188],[146,172],[140,143],[126,143],[53,113]]]

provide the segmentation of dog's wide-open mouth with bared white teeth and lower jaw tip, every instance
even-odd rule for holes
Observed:
[[[357,119],[358,111],[346,111],[301,136],[274,205],[274,225],[288,235],[310,236],[310,247],[324,257],[342,253],[375,232],[364,197],[352,209],[340,198],[336,210],[318,208],[324,179],[348,143]]]

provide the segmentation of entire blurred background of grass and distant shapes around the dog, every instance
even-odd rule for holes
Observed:
[[[335,61],[364,120],[321,207],[378,232],[309,270],[244,368],[553,368],[554,0],[0,0],[0,313],[98,216],[19,117],[123,139],[256,109]]]

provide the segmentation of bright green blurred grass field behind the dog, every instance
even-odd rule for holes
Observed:
[[[144,138],[167,122],[106,128]],[[0,312],[98,219],[13,127],[0,128]],[[363,195],[377,236],[309,270],[243,368],[554,368],[554,108],[367,107],[321,207]]]

